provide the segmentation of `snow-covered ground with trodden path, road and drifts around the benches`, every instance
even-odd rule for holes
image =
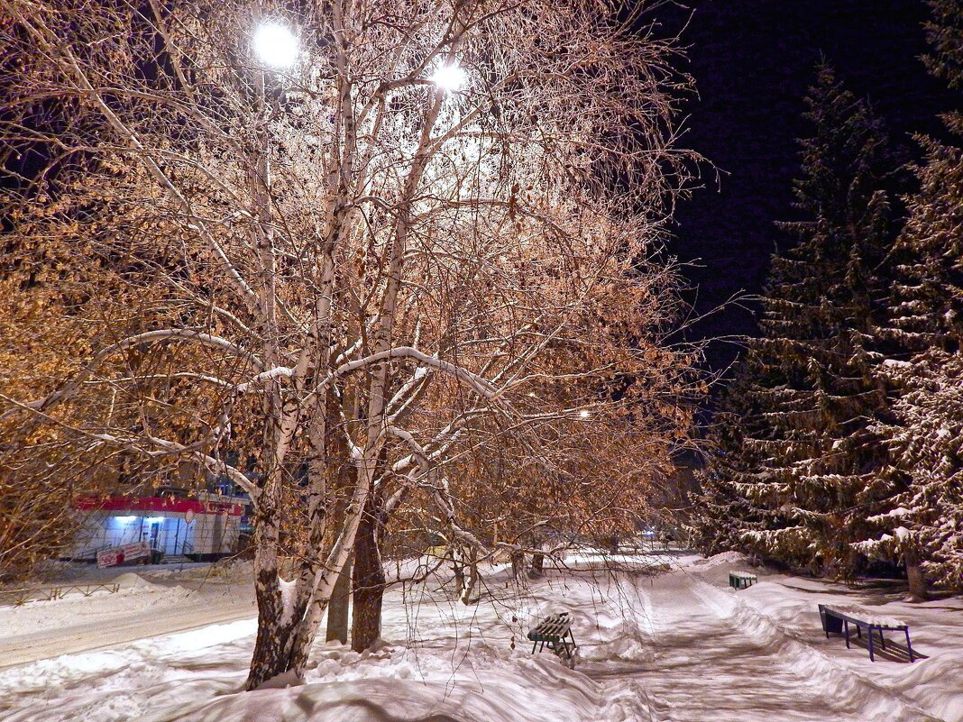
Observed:
[[[765,570],[735,592],[729,570],[748,569],[736,555],[619,560],[609,572],[573,557],[521,597],[493,568],[478,606],[450,601],[442,580],[396,587],[377,651],[318,644],[305,684],[246,693],[247,583],[128,573],[117,595],[0,607],[0,719],[963,722],[963,599],[911,605]],[[818,603],[906,620],[927,658],[846,650],[822,634]],[[525,639],[561,610],[575,620],[575,671]]]

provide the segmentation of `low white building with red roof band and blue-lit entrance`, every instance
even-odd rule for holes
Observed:
[[[146,543],[155,558],[183,555],[208,561],[236,554],[247,497],[198,492],[193,497],[108,497],[79,499],[83,515],[73,559]]]

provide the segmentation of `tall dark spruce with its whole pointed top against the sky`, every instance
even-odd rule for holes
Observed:
[[[762,299],[762,336],[750,342],[736,411],[740,432],[724,443],[742,468],[724,477],[754,511],[742,548],[836,576],[860,559],[851,543],[896,492],[872,422],[885,389],[872,374],[872,329],[885,296],[876,269],[892,241],[883,190],[898,163],[869,105],[820,66],[806,99],[815,128],[801,141],[794,183],[801,219],[781,223],[794,245],[773,256]]]

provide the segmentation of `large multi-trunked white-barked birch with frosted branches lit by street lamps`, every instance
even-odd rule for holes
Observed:
[[[153,300],[143,330],[7,413],[247,491],[248,688],[303,671],[366,508],[431,517],[477,559],[494,517],[460,518],[511,494],[477,460],[510,450],[511,488],[545,497],[532,524],[565,503],[597,519],[632,505],[688,425],[691,358],[665,343],[674,280],[655,260],[690,159],[673,148],[687,81],[644,17],[296,6],[0,0],[0,133],[44,161],[18,169],[13,235],[56,226],[108,265],[133,259]],[[143,366],[117,361],[131,348]],[[98,388],[123,391],[124,423],[71,415]],[[609,451],[582,477],[591,449]]]

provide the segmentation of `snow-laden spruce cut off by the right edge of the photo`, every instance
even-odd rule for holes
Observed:
[[[924,61],[951,89],[963,89],[963,4],[930,3]],[[959,106],[957,106],[959,107]],[[963,134],[963,113],[943,116]],[[859,549],[899,554],[911,592],[925,596],[925,578],[963,587],[963,150],[919,137],[924,164],[919,191],[907,198],[909,218],[894,248],[894,283],[887,322],[892,348],[877,370],[895,390],[893,417],[876,426],[908,488],[876,533]]]

